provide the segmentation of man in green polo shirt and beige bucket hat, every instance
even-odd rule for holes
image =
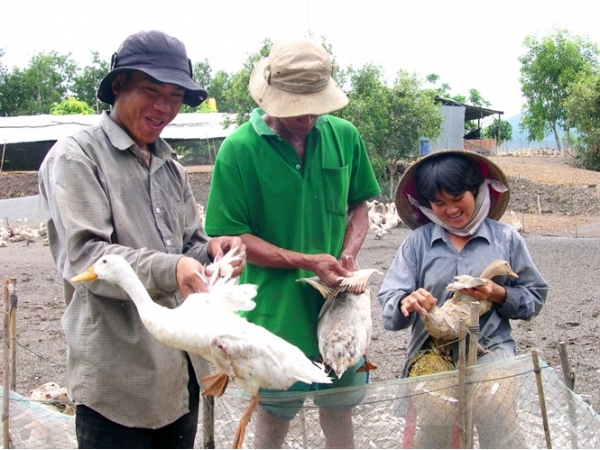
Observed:
[[[314,359],[323,298],[296,280],[317,275],[337,286],[351,275],[368,230],[366,201],[379,194],[356,128],[328,114],[348,103],[331,72],[329,54],[305,38],[278,41],[256,64],[249,89],[260,108],[219,150],[206,217],[209,235],[239,235],[246,244],[240,280],[259,286],[248,320]],[[364,385],[360,364],[340,380],[332,371],[326,386]],[[352,406],[361,395],[315,398],[328,448],[354,446]],[[281,402],[273,392],[261,399],[254,446],[279,448],[303,401]]]

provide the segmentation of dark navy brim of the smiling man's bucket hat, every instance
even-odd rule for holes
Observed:
[[[206,97],[208,96],[207,92],[194,83],[187,73],[184,73],[180,70],[146,67],[119,67],[109,72],[108,75],[106,75],[100,82],[100,87],[98,88],[98,99],[104,103],[108,103],[109,105],[114,105],[115,94],[111,86],[113,80],[118,75],[125,72],[131,72],[133,70],[143,72],[155,80],[160,81],[161,83],[170,83],[181,86],[185,89],[185,93],[183,94],[183,103],[191,106],[192,108],[200,105],[200,103],[206,100]]]

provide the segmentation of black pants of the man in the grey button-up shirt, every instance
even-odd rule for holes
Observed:
[[[188,359],[190,412],[175,422],[156,430],[130,428],[97,413],[85,405],[77,405],[75,431],[79,448],[194,448],[198,428],[200,388],[192,363]],[[132,408],[135,407],[132,405]]]

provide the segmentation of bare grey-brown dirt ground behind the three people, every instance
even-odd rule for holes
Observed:
[[[600,173],[570,166],[562,158],[494,159],[509,177],[509,209],[524,224],[535,263],[551,286],[547,304],[532,322],[513,322],[519,353],[538,349],[562,374],[559,342],[565,342],[575,391],[600,411]],[[210,173],[190,168],[199,203],[205,204]],[[0,173],[0,198],[37,193],[36,173]],[[385,273],[410,230],[399,227],[383,239],[368,235],[359,255],[363,268]],[[61,281],[50,252],[41,242],[9,243],[0,248],[0,277],[17,279],[17,391],[28,395],[41,384],[66,385],[66,344],[60,326],[64,311]],[[376,293],[382,277],[372,277]],[[374,380],[398,376],[409,333],[385,331],[381,308],[373,301],[371,358],[379,368]]]

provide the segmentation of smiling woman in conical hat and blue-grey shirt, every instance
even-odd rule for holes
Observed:
[[[518,275],[491,276],[493,279],[485,279],[485,285],[460,291],[472,296],[473,301],[485,300],[492,305],[480,317],[479,344],[485,352],[478,355],[477,364],[514,356],[510,320],[528,321],[540,313],[548,285],[535,267],[523,237],[510,225],[498,221],[508,200],[508,182],[502,170],[476,153],[432,153],[402,176],[395,203],[403,222],[413,231],[398,249],[377,298],[386,330],[411,327],[404,377],[455,368],[458,342],[434,339],[422,317],[448,300],[451,292],[446,286],[456,276],[479,277],[497,260],[507,261]],[[481,448],[527,448],[525,433],[510,420],[514,419],[512,386],[498,386],[495,389],[500,391],[495,396],[486,397],[480,388],[475,389],[473,417]],[[452,433],[455,404],[440,401],[434,406],[432,402],[421,408],[414,406],[429,400],[423,396],[409,400],[405,448],[456,445],[457,428]]]

